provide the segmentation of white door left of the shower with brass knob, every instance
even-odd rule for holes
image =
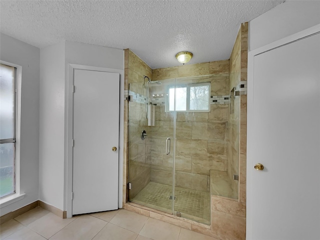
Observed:
[[[119,73],[74,70],[72,214],[118,208]]]

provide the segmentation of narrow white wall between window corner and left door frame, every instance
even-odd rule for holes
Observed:
[[[63,209],[64,49],[40,49],[39,199]]]

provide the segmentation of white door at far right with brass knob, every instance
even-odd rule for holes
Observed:
[[[320,34],[254,55],[249,84],[247,239],[320,239]]]

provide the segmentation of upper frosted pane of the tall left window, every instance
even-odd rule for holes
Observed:
[[[14,67],[0,64],[0,138],[14,136]]]

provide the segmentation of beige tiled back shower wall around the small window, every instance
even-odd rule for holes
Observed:
[[[203,76],[206,75],[206,76]],[[152,70],[152,80],[199,76],[192,82],[211,82],[210,95],[226,95],[229,88],[229,60],[187,64]],[[150,135],[158,138],[173,132],[173,116],[164,105],[155,106],[155,126]],[[209,191],[210,169],[227,169],[228,104],[210,104],[210,112],[178,112],[176,115],[175,185]],[[165,129],[165,131],[164,131]],[[165,140],[162,139],[163,142]],[[156,151],[155,145],[149,146]],[[159,154],[149,163],[151,180],[169,184],[172,158]],[[159,165],[159,161],[162,166]],[[165,168],[166,167],[166,168]]]

